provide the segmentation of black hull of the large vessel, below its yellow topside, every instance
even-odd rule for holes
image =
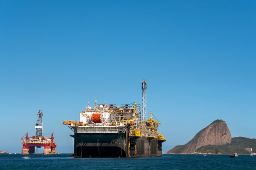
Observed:
[[[74,157],[148,157],[162,155],[162,141],[128,133],[74,133]]]

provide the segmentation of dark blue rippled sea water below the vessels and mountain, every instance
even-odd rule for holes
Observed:
[[[255,169],[256,156],[163,155],[140,158],[72,158],[70,154],[0,154],[0,169]]]

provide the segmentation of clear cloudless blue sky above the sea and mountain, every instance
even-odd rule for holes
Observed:
[[[255,1],[0,1],[0,150],[54,132],[98,103],[141,104],[161,121],[165,150],[216,119],[256,138]]]

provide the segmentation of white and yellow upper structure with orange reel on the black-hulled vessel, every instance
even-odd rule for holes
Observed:
[[[117,107],[115,104],[99,104],[94,109],[90,106],[80,112],[80,120],[64,120],[77,133],[118,133],[127,126],[138,129],[140,124],[140,105],[136,103],[123,104]]]

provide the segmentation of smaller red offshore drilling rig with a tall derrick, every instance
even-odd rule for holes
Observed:
[[[51,134],[51,138],[43,136],[42,110],[39,110],[37,115],[38,119],[35,126],[36,135],[29,137],[27,133],[25,138],[21,138],[23,140],[22,154],[34,154],[35,147],[44,147],[43,154],[55,154],[57,145],[53,142],[53,133]]]

